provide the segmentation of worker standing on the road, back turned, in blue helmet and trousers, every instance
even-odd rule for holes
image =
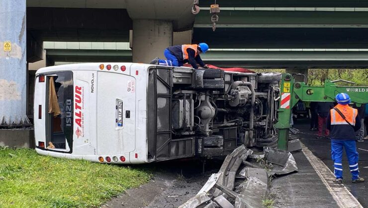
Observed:
[[[330,130],[331,157],[334,161],[335,183],[343,183],[343,148],[349,160],[353,183],[362,183],[359,177],[359,154],[356,147],[356,131],[361,128],[358,110],[349,106],[350,97],[346,93],[336,96],[337,105],[327,115],[326,128]]]

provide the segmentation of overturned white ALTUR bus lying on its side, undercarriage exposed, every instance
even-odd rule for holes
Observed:
[[[270,141],[270,122],[276,116],[270,110],[276,104],[275,88],[267,84],[264,89],[268,91],[257,94],[253,105],[262,109],[255,114],[258,124],[251,119],[253,127],[246,120],[250,98],[256,96],[250,88],[257,90],[257,74],[217,72],[219,75],[206,75],[187,67],[140,63],[41,68],[36,73],[34,94],[36,151],[47,156],[134,164],[223,156],[241,144],[255,146],[257,138]],[[211,80],[203,81],[206,76]],[[56,111],[52,107],[56,102],[60,115],[57,107]],[[263,102],[270,106],[267,112],[261,107],[266,105]],[[270,120],[265,122],[266,117]]]

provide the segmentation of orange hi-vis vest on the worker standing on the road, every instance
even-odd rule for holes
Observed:
[[[353,126],[355,126],[355,118],[358,115],[358,110],[350,107],[349,105],[342,105],[338,104],[335,106],[339,109],[343,115],[345,116],[346,120]],[[349,125],[344,118],[334,109],[331,109],[331,125]]]

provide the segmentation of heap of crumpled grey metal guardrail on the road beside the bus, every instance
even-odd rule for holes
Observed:
[[[263,163],[256,164],[255,159]],[[198,194],[179,208],[263,208],[262,201],[269,194],[269,177],[297,170],[289,152],[265,147],[264,155],[256,155],[240,146],[226,156],[219,172],[208,178]],[[244,181],[239,184],[241,180]]]

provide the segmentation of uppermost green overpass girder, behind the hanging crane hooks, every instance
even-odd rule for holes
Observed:
[[[221,10],[221,27],[368,27],[366,11],[253,11]],[[195,16],[194,27],[212,27],[208,10]]]

